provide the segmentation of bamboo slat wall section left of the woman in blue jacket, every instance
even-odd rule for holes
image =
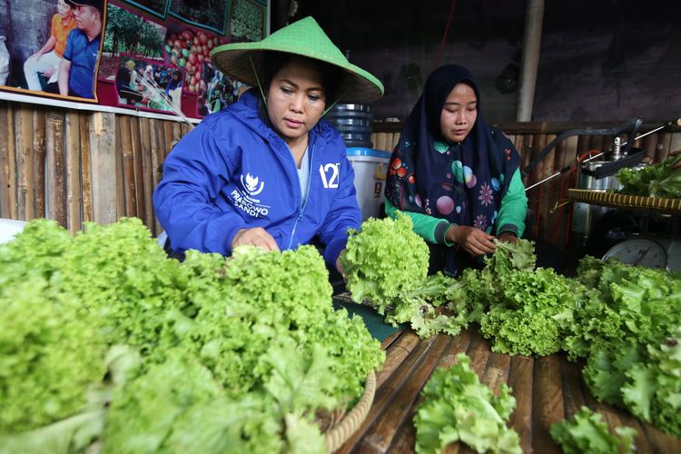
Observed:
[[[0,218],[84,222],[135,216],[161,232],[152,206],[159,166],[189,126],[124,114],[0,102]]]

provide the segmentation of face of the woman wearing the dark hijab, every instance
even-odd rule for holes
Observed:
[[[449,143],[469,135],[478,118],[478,98],[469,84],[456,84],[449,92],[439,116],[439,130]]]

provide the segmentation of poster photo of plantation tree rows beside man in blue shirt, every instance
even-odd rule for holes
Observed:
[[[109,4],[99,79],[113,83],[121,54],[129,54],[163,64],[163,36],[166,30],[143,16]]]

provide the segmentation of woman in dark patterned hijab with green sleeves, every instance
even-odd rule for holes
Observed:
[[[497,237],[525,230],[528,199],[513,143],[485,122],[478,84],[468,69],[440,66],[426,81],[386,183],[386,212],[410,215],[430,247],[430,273],[458,275],[479,266]]]

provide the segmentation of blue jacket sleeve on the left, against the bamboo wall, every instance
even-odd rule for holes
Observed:
[[[237,212],[223,212],[213,203],[232,178],[233,165],[223,150],[206,122],[184,136],[163,163],[153,205],[175,251],[229,255],[234,234],[245,227]]]

